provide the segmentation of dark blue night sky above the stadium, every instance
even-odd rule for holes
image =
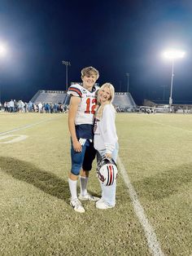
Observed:
[[[100,72],[99,84],[111,82],[144,98],[168,103],[171,62],[162,51],[186,52],[175,63],[173,103],[192,104],[192,1],[185,0],[0,0],[0,59],[3,99],[28,101],[40,89],[65,90],[81,81],[81,68]]]

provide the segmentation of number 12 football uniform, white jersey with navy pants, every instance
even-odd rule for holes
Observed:
[[[75,152],[71,148],[72,157],[72,174],[78,175],[81,167],[83,170],[91,170],[92,162],[96,155],[94,149],[94,113],[97,104],[98,86],[93,86],[91,91],[86,90],[79,84],[72,85],[68,88],[68,95],[80,97],[81,102],[78,105],[75,118],[76,138],[81,143],[82,151]]]

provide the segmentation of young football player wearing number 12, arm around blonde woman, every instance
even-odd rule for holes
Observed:
[[[96,92],[98,86],[94,86],[98,80],[99,73],[96,68],[87,67],[81,70],[82,86],[72,85],[68,88],[68,95],[71,95],[68,112],[68,127],[72,139],[71,157],[72,170],[68,177],[69,189],[73,209],[84,213],[85,209],[81,201],[98,201],[98,197],[91,196],[87,192],[89,170],[96,155],[94,149],[94,111],[96,107]],[[82,170],[81,170],[82,168]],[[80,185],[81,194],[77,198],[76,185],[81,171]]]

